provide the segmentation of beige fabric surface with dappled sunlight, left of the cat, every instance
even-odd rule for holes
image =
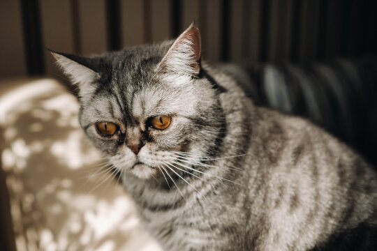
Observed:
[[[0,82],[1,160],[17,250],[160,250],[53,79]]]

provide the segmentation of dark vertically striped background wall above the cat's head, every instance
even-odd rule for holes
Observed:
[[[377,52],[374,0],[0,0],[0,77],[57,75],[45,48],[93,54],[176,37],[209,61],[304,63]]]

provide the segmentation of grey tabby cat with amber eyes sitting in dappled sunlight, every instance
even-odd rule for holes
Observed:
[[[193,25],[102,56],[53,52],[145,229],[164,250],[373,250],[374,169],[308,121],[254,106],[200,52]]]

